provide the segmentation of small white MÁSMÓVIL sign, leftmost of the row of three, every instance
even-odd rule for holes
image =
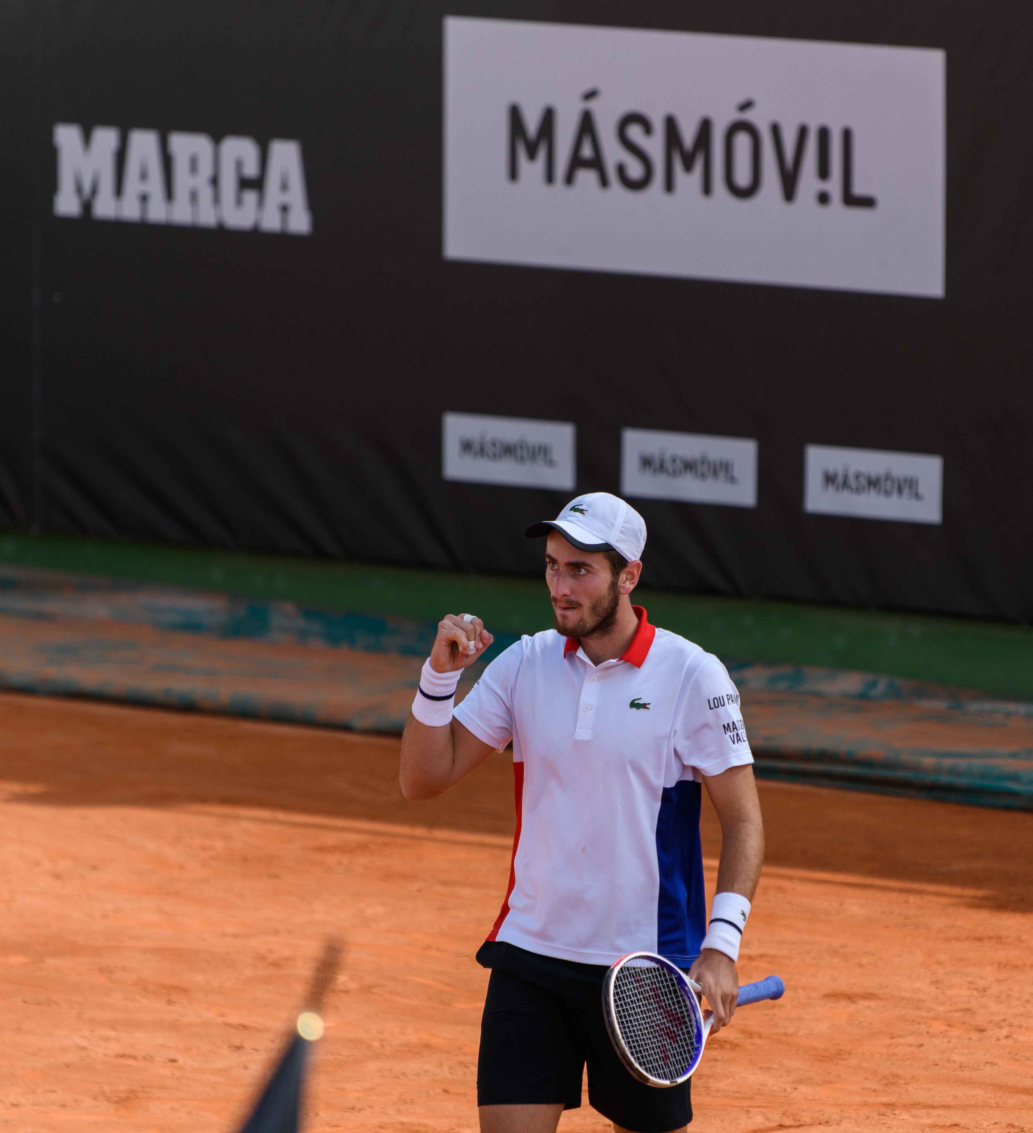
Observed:
[[[521,417],[442,415],[442,476],[471,484],[574,488],[574,426]]]

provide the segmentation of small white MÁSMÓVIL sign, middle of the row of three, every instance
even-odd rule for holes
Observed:
[[[621,494],[755,508],[757,442],[625,428],[621,433]]]

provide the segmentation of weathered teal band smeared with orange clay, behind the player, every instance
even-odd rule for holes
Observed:
[[[19,692],[399,732],[434,632],[427,620],[0,564],[0,689]],[[496,648],[513,640],[500,631]],[[761,775],[1033,808],[1033,701],[846,668],[729,670]]]

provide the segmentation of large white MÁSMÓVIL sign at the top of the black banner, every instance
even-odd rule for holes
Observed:
[[[449,259],[939,298],[946,54],[446,17]]]

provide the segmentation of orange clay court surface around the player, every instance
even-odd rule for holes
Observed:
[[[394,739],[16,695],[0,735],[3,1128],[232,1130],[334,931],[308,1128],[476,1128],[506,758],[407,803]],[[1033,1128],[1033,815],[761,795],[741,976],[788,991],[715,1038],[693,1128]]]

